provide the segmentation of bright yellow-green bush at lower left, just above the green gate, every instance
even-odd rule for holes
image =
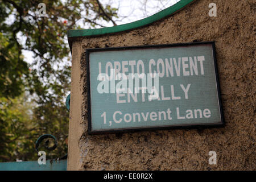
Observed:
[[[24,100],[23,97],[0,98],[1,161],[35,159],[34,139],[39,129],[27,112],[32,109],[31,105],[24,104]]]

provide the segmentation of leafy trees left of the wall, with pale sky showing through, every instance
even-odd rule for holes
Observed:
[[[0,1],[0,162],[37,159],[35,141],[52,134],[59,142],[52,158],[67,153],[71,67],[67,30],[103,27],[117,9],[98,0],[54,0],[46,16],[42,1]],[[31,64],[23,51],[32,51]]]

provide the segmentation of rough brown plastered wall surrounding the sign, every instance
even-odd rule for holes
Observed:
[[[217,5],[217,17],[208,15],[211,2]],[[254,11],[253,0],[197,0],[150,26],[73,42],[68,169],[255,170]],[[91,136],[86,133],[86,48],[194,40],[216,42],[225,127]],[[80,55],[74,56],[75,52]],[[82,105],[77,104],[79,99]],[[76,132],[77,126],[81,132]],[[208,163],[208,152],[212,150],[217,152],[217,165]]]

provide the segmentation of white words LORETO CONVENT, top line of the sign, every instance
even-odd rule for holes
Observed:
[[[158,73],[159,77],[174,77],[174,76],[193,76],[204,75],[204,56],[189,56],[189,57],[172,57],[166,59],[150,59],[148,61],[148,73]],[[163,61],[164,60],[164,61]],[[131,73],[144,73],[144,63],[142,60],[132,61],[110,61],[106,63],[105,73],[109,76],[110,69],[115,70],[115,74],[123,73],[127,76],[129,68]],[[137,71],[137,72],[135,72]],[[98,63],[98,74],[102,73],[102,63]],[[116,75],[115,75],[116,76]],[[110,79],[109,79],[110,80]]]

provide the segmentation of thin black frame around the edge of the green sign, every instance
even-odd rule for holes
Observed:
[[[217,94],[218,102],[220,109],[220,123],[202,123],[202,124],[184,124],[184,125],[175,125],[175,126],[159,126],[159,127],[139,127],[139,128],[128,128],[128,129],[113,129],[113,130],[101,130],[101,131],[92,131],[92,118],[91,118],[91,100],[90,100],[90,52],[98,51],[120,51],[120,50],[131,50],[131,49],[145,49],[145,48],[164,48],[164,47],[186,47],[186,46],[195,46],[195,45],[205,45],[210,44],[213,50],[213,62],[214,62],[214,71],[217,84]],[[85,50],[86,54],[86,77],[87,77],[87,109],[88,109],[88,134],[111,134],[111,133],[123,133],[123,132],[138,132],[138,131],[154,131],[154,130],[170,130],[170,129],[199,129],[199,128],[212,128],[212,127],[224,127],[224,111],[222,106],[221,99],[221,90],[220,90],[220,80],[218,76],[218,65],[216,59],[216,47],[215,42],[192,42],[192,43],[176,43],[176,44],[156,44],[156,45],[147,45],[147,46],[129,46],[129,47],[106,47],[106,48],[89,48]]]

